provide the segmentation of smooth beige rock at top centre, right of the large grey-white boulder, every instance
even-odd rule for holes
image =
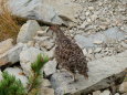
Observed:
[[[68,19],[75,22],[76,20],[74,15],[82,9],[80,4],[74,3],[71,0],[51,0],[50,2],[47,0],[43,0],[43,3],[53,7],[62,19]]]

